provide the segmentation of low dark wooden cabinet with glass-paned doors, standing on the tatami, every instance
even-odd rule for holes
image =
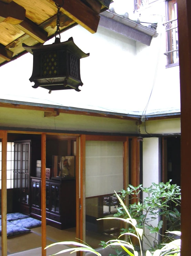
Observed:
[[[31,178],[31,215],[41,218],[41,179]],[[46,181],[47,224],[66,229],[76,227],[76,180]]]

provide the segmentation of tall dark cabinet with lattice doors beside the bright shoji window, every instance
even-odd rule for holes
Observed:
[[[29,214],[30,141],[14,142],[14,191],[20,211]]]

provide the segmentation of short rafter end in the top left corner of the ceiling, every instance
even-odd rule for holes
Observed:
[[[0,2],[0,22],[7,22],[12,25],[17,25],[25,19],[26,10],[11,1],[9,4]]]

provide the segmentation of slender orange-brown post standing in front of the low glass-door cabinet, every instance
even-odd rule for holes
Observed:
[[[41,217],[42,256],[46,256],[46,133],[41,135]]]

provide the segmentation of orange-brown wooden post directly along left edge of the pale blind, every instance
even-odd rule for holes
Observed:
[[[80,140],[80,239],[86,240],[86,135]]]

